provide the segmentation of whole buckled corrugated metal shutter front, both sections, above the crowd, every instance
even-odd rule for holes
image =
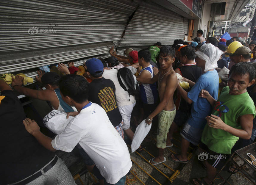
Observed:
[[[122,54],[184,38],[181,16],[143,0],[2,0],[0,18],[0,74],[34,77],[43,65],[109,57],[113,45]]]

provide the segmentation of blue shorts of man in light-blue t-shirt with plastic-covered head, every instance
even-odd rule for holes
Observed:
[[[191,142],[193,145],[198,145],[203,133],[202,128],[196,128],[188,124],[188,122],[185,123],[184,128],[180,132],[180,135],[186,139],[187,141]]]

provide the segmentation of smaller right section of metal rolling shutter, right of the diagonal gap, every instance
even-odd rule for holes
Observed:
[[[156,42],[172,45],[175,39],[184,39],[183,18],[157,4],[141,4],[125,31],[119,47],[128,44],[140,50]]]

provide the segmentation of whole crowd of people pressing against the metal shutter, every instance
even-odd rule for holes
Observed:
[[[0,184],[75,184],[54,152],[77,147],[100,185],[124,185],[132,167],[124,142],[124,135],[131,141],[134,136],[131,117],[135,124],[153,124],[158,156],[149,159],[152,165],[167,160],[164,150],[173,147],[177,130],[181,151],[168,160],[187,163],[191,144],[214,156],[202,161],[207,176],[191,179],[192,184],[209,184],[230,154],[256,136],[256,42],[205,40],[202,30],[196,36],[190,44],[178,39],[172,46],[157,42],[140,51],[127,48],[126,56],[116,54],[113,46],[107,60],[92,58],[78,67],[59,63],[51,72],[38,71],[36,79],[46,90],[22,87],[24,77],[13,77],[15,91],[49,101],[52,109],[72,117],[54,138],[26,117],[17,95],[0,80]],[[227,71],[226,80],[221,71]],[[182,82],[189,88],[182,88]],[[233,166],[226,170],[237,171]]]

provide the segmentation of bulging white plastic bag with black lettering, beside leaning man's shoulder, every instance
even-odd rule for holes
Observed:
[[[54,134],[60,134],[73,118],[73,116],[69,116],[67,119],[65,112],[53,110],[43,118],[43,123]]]

